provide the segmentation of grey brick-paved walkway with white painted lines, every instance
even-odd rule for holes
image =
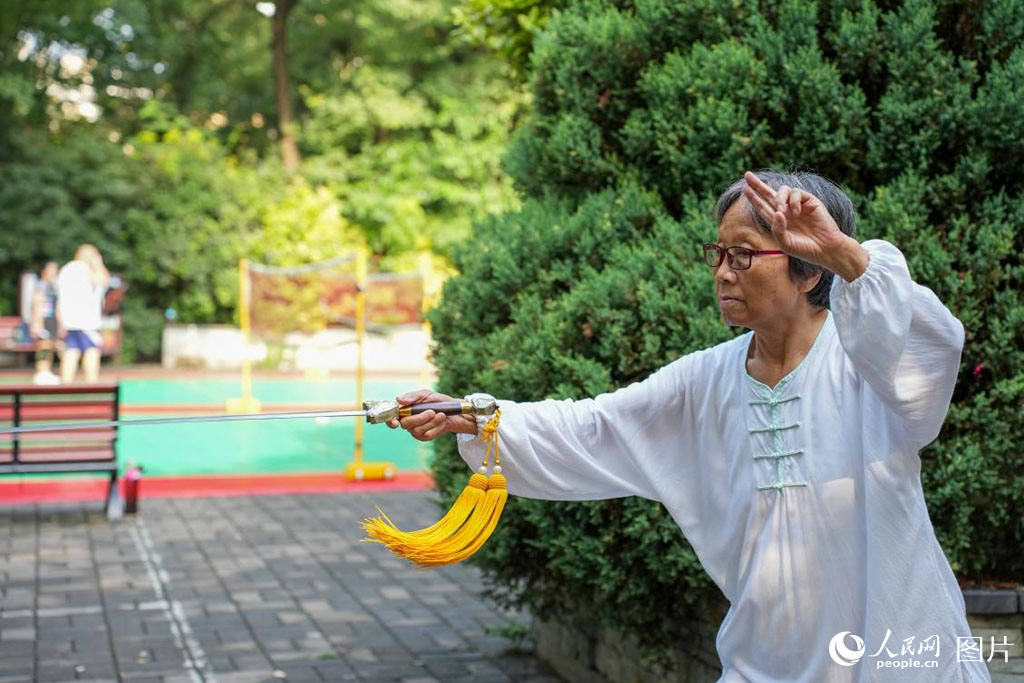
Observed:
[[[494,632],[528,622],[474,569],[359,542],[375,505],[415,527],[433,500],[146,499],[115,523],[98,501],[0,507],[0,682],[557,683]]]

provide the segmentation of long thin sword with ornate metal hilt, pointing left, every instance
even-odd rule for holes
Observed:
[[[308,418],[366,418],[372,425],[420,415],[427,411],[444,415],[494,415],[498,403],[494,398],[474,397],[472,400],[445,400],[428,403],[401,405],[396,400],[367,400],[361,411],[303,411],[299,413],[247,413],[245,415],[200,415],[187,418],[143,418],[141,420],[108,420],[105,422],[73,422],[56,425],[33,425],[31,427],[4,427],[0,434],[29,432],[55,432],[79,429],[113,429],[135,425],[181,425],[200,422],[245,422],[249,420],[295,420]]]

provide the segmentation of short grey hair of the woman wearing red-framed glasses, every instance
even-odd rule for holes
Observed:
[[[853,207],[853,202],[847,194],[831,180],[823,178],[816,173],[808,173],[806,171],[781,173],[779,171],[762,170],[755,172],[755,175],[761,178],[761,180],[772,189],[778,189],[782,185],[790,185],[791,187],[803,189],[804,191],[814,195],[821,201],[822,204],[825,205],[825,209],[839,225],[840,231],[850,237],[853,237],[857,231],[857,211]],[[722,224],[722,218],[725,217],[725,212],[736,203],[736,200],[743,196],[743,185],[745,184],[746,181],[739,178],[729,185],[728,188],[722,193],[721,197],[718,198],[718,203],[715,205],[715,211],[713,214],[716,223],[719,225]],[[771,234],[771,222],[765,220],[765,218],[758,213],[754,207],[748,206],[748,210],[751,218],[754,220],[754,224],[757,225],[762,231]],[[809,263],[793,256],[790,257],[790,276],[794,280],[794,282],[804,282],[819,272],[821,273],[821,280],[819,280],[818,284],[814,286],[814,289],[807,293],[807,300],[812,306],[827,308],[828,293],[831,291],[833,278],[835,274],[830,270],[826,270],[819,265]]]

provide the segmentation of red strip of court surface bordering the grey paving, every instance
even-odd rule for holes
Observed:
[[[59,478],[0,480],[0,505],[98,501],[106,495],[108,479]],[[124,496],[124,481],[121,481]],[[139,505],[146,498],[207,498],[284,494],[347,494],[430,490],[434,481],[427,472],[398,472],[393,479],[351,481],[334,472],[296,474],[246,474],[213,476],[143,477]]]

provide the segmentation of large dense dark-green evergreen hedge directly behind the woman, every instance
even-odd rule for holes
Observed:
[[[730,337],[697,245],[744,169],[810,168],[858,237],[907,255],[967,328],[942,433],[922,453],[965,579],[1024,574],[1024,5],[580,2],[534,44],[534,111],[507,167],[521,210],[457,258],[431,316],[440,389],[593,395]],[[453,439],[434,471],[467,470]],[[516,499],[477,556],[501,599],[586,613],[651,647],[721,596],[663,508]]]

